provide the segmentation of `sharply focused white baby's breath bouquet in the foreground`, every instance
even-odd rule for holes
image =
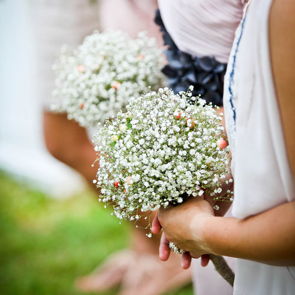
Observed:
[[[140,212],[177,205],[185,195],[221,193],[229,147],[218,147],[224,128],[211,105],[165,88],[131,98],[126,109],[94,136],[100,165],[94,182],[112,214],[136,221]],[[231,193],[215,199],[230,201]]]

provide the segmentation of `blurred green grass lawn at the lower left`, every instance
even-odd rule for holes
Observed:
[[[92,191],[53,200],[0,172],[0,294],[82,295],[74,281],[128,245]],[[104,295],[115,295],[111,290]],[[192,295],[186,286],[169,295]]]

